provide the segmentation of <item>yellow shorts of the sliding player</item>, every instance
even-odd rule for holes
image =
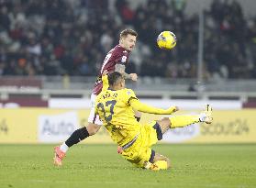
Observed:
[[[128,149],[124,149],[122,156],[137,167],[144,167],[145,162],[153,160],[154,150],[150,147],[162,136],[159,125],[153,121],[141,125],[139,137]],[[160,136],[161,135],[161,136]]]

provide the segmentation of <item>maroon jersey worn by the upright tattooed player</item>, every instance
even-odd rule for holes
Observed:
[[[107,70],[108,73],[115,71],[116,64],[120,63],[126,65],[128,63],[129,51],[125,50],[120,45],[117,45],[114,49],[110,50],[106,54],[106,58],[103,61],[100,73],[98,75],[97,82],[95,83],[95,88],[93,93],[99,94],[102,90],[102,73]]]

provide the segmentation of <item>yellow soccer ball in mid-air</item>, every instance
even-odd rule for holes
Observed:
[[[176,46],[176,36],[171,31],[162,31],[157,38],[157,45],[161,49],[172,50]]]

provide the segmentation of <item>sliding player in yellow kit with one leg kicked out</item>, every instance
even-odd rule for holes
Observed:
[[[141,125],[134,116],[139,112],[171,115],[178,110],[176,106],[164,110],[139,102],[131,89],[125,88],[125,79],[119,72],[103,77],[103,90],[96,98],[95,113],[103,121],[113,141],[119,146],[119,153],[138,167],[160,170],[170,168],[170,160],[150,147],[161,140],[169,128],[185,127],[197,122],[212,122],[211,107],[195,116],[172,116]]]

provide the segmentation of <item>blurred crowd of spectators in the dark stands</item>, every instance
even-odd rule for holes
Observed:
[[[124,28],[139,33],[128,72],[195,78],[198,15],[185,0],[0,0],[0,75],[95,76]],[[204,76],[256,78],[256,14],[245,18],[237,1],[214,0],[205,15]],[[172,30],[171,51],[156,38]]]

